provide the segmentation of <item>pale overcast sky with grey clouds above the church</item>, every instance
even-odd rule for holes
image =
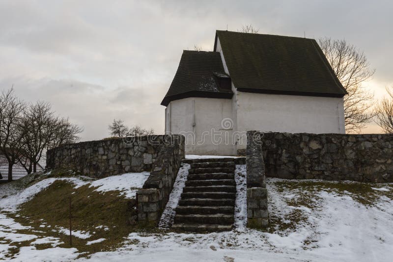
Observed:
[[[182,51],[212,51],[216,29],[252,24],[260,33],[345,38],[376,69],[376,98],[393,86],[391,1],[0,1],[0,88],[45,100],[84,127],[83,140],[109,136],[122,118],[164,132],[160,105]],[[365,132],[379,132],[375,124]]]

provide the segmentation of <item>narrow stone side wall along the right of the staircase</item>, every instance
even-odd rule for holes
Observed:
[[[250,228],[268,225],[267,189],[261,133],[247,132],[247,224]]]

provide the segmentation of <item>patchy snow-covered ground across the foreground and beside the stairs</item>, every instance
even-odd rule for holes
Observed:
[[[187,178],[188,166],[180,170],[179,190],[171,196],[173,211]],[[112,252],[98,252],[79,261],[390,261],[393,257],[393,184],[373,184],[372,204],[359,201],[356,191],[340,190],[343,183],[306,181],[298,183],[281,179],[267,179],[269,192],[270,228],[265,232],[245,228],[246,194],[245,166],[236,166],[236,228],[231,232],[211,234],[178,234],[134,232],[126,237],[122,247]],[[117,177],[117,178],[116,178]],[[123,179],[112,177],[112,186],[124,192]],[[15,210],[18,203],[28,200],[33,193],[48,186],[50,181],[30,186],[14,196],[1,199],[0,209]],[[91,183],[91,182],[84,182]],[[111,184],[108,183],[108,184]],[[128,182],[127,182],[128,183]],[[358,183],[353,183],[357,185]],[[351,183],[347,183],[351,185]],[[97,186],[99,184],[97,183]],[[102,185],[101,185],[102,186]],[[137,187],[137,186],[135,186]],[[2,187],[0,187],[1,189]],[[100,187],[98,187],[100,188]],[[109,187],[106,191],[111,190]],[[126,192],[123,196],[129,196]],[[1,195],[1,192],[0,192]],[[173,215],[170,209],[167,213]],[[0,260],[16,241],[28,239],[29,246],[22,247],[14,261],[71,261],[79,254],[75,248],[62,248],[58,239],[38,238],[18,233],[29,229],[28,225],[15,223],[0,212]],[[38,229],[35,229],[38,230]],[[51,248],[39,250],[39,242],[52,244]],[[97,239],[92,241],[103,241]],[[93,244],[93,243],[91,243]]]

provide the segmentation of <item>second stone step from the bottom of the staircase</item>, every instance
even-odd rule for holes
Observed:
[[[175,223],[200,223],[215,225],[232,225],[234,222],[233,214],[177,214]]]

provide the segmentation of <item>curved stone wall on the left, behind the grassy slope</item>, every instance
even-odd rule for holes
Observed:
[[[150,171],[166,135],[65,144],[47,152],[47,168],[80,171],[94,178]]]

